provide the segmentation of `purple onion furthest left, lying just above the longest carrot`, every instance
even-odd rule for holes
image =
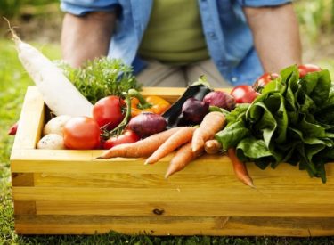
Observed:
[[[151,112],[142,112],[132,118],[126,128],[133,130],[141,138],[146,138],[164,131],[166,127],[167,121],[162,116]]]

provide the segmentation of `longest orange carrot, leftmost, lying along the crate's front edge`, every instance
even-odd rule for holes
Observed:
[[[171,135],[182,128],[183,127],[174,127],[167,131],[160,132],[159,134],[151,135],[135,143],[119,144],[108,151],[104,151],[102,155],[96,159],[148,157],[156,151],[162,143],[166,142]]]

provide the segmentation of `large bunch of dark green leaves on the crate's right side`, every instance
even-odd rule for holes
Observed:
[[[223,150],[264,169],[287,162],[326,182],[325,163],[334,159],[334,85],[322,70],[299,79],[297,66],[281,71],[251,104],[227,116],[216,134]]]

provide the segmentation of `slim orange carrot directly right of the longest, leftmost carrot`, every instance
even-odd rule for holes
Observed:
[[[155,163],[179,148],[183,143],[190,142],[194,131],[194,127],[183,127],[180,129],[177,133],[170,136],[165,143],[161,144],[158,150],[154,151],[151,157],[146,159],[145,164]]]

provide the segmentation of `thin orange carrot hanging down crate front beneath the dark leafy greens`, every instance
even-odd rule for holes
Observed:
[[[228,149],[227,154],[232,160],[232,165],[233,165],[235,176],[237,176],[237,178],[243,184],[246,184],[252,188],[255,188],[255,185],[253,184],[253,180],[248,175],[248,171],[247,171],[247,167],[245,163],[243,163],[242,161],[240,161],[240,159],[238,159],[237,155],[235,154],[235,149],[234,148]]]

